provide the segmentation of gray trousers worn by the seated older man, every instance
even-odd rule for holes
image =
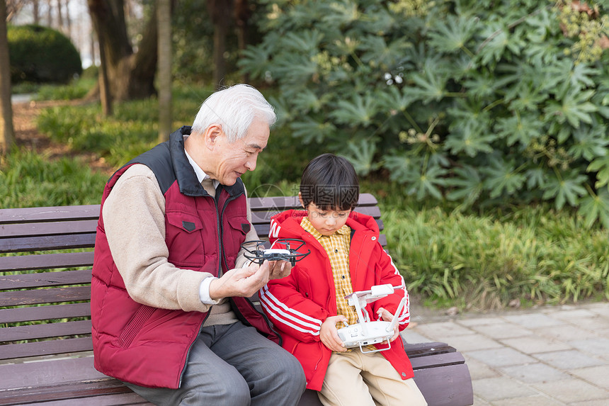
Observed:
[[[292,354],[236,322],[203,328],[181,388],[125,385],[155,405],[295,406],[306,382]]]

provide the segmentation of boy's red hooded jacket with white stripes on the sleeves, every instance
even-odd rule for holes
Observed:
[[[329,258],[321,244],[309,232],[300,227],[307,215],[304,210],[288,210],[273,216],[271,242],[279,238],[298,238],[305,241],[299,252],[311,254],[298,261],[290,276],[269,281],[260,291],[264,312],[282,332],[283,347],[300,361],[307,376],[307,388],[320,390],[328,368],[331,350],[319,339],[321,323],[336,315],[336,292]],[[399,329],[410,321],[408,292],[404,278],[392,263],[391,257],[378,242],[379,229],[374,218],[352,212],[346,225],[351,227],[349,269],[353,291],[366,291],[373,285],[391,283],[402,286],[392,295],[369,303],[368,314],[376,315],[378,308],[396,312],[399,301],[406,295],[406,305],[399,315]],[[385,348],[387,344],[377,344]],[[394,366],[402,379],[412,378],[414,373],[401,339],[391,343],[391,348],[381,351]]]

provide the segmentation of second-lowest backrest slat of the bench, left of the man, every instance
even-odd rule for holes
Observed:
[[[91,320],[4,327],[3,342],[91,334]]]

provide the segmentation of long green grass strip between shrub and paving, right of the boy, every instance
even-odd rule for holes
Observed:
[[[607,230],[545,207],[496,215],[384,205],[387,248],[426,303],[467,309],[609,299]]]

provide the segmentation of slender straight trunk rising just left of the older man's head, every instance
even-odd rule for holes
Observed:
[[[171,0],[158,0],[156,10],[159,27],[159,142],[171,132]]]

